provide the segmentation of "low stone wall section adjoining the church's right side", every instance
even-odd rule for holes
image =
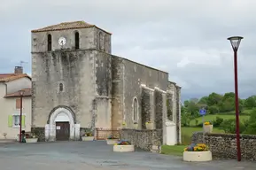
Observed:
[[[162,129],[122,129],[120,131],[120,138],[128,140],[128,142],[145,151],[151,151],[153,145],[160,146],[162,144],[163,137]]]

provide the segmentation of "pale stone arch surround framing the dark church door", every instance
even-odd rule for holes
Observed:
[[[80,124],[75,124],[74,112],[66,106],[58,106],[49,114],[47,125],[45,126],[45,139],[46,141],[56,140],[56,123],[69,122],[69,139],[76,140],[80,138]]]

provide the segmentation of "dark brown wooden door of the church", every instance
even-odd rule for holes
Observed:
[[[56,141],[68,141],[70,136],[69,122],[56,122]]]

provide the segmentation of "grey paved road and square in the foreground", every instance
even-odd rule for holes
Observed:
[[[182,158],[136,151],[112,152],[103,141],[0,143],[1,170],[236,170],[256,169],[256,163],[214,160],[182,162]]]

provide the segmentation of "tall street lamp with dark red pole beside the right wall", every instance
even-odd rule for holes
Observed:
[[[237,133],[237,161],[241,161],[241,148],[240,148],[240,132],[239,132],[239,98],[238,98],[238,83],[237,83],[237,50],[242,36],[231,36],[228,38],[234,51],[234,73],[235,73],[235,97],[236,97],[236,133]]]

